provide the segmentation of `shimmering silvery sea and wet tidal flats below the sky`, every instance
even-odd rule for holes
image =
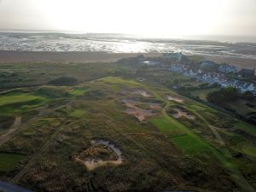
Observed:
[[[209,38],[211,39],[211,38]],[[212,38],[214,39],[214,38]],[[234,38],[236,40],[236,38]],[[65,32],[0,32],[0,51],[148,53],[182,52],[256,60],[256,41],[217,41],[182,38],[145,38],[125,34]]]

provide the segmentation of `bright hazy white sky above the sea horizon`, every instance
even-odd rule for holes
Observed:
[[[0,29],[256,36],[256,0],[0,0]]]

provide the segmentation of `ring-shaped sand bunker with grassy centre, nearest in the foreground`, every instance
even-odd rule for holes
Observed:
[[[120,165],[123,163],[122,152],[109,141],[92,140],[90,148],[82,151],[76,160],[83,163],[91,171],[98,166],[108,164]]]

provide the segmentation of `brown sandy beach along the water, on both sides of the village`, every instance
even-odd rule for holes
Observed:
[[[53,51],[17,51],[0,50],[0,64],[4,63],[38,63],[38,62],[61,62],[61,63],[86,63],[86,62],[114,62],[125,57],[144,55],[145,57],[160,56],[160,53],[109,53],[109,52],[53,52]],[[256,68],[256,60],[249,58],[237,58],[230,56],[201,55],[206,60],[218,63],[230,63],[241,68]]]

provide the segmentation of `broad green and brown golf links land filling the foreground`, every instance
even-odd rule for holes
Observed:
[[[163,83],[177,74],[125,63],[7,71],[21,80],[0,84],[1,180],[52,192],[256,189],[255,125]]]

